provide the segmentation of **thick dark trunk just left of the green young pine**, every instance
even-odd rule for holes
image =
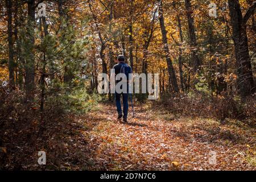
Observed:
[[[27,45],[28,51],[28,59],[26,59],[25,65],[25,90],[26,90],[26,98],[28,101],[32,101],[34,98],[34,88],[35,88],[35,59],[34,59],[34,46],[35,46],[35,0],[28,0],[28,36],[30,38],[30,43]]]

